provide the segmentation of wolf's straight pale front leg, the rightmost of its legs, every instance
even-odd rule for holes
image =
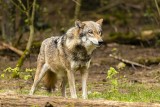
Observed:
[[[82,98],[87,99],[87,79],[88,79],[88,71],[81,72],[82,75]]]

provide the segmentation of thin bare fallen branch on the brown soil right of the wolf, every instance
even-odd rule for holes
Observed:
[[[112,58],[114,58],[114,59],[117,59],[117,60],[119,60],[119,61],[122,61],[122,62],[124,62],[124,63],[126,63],[126,64],[130,64],[130,65],[132,65],[132,66],[139,66],[139,67],[142,67],[142,68],[151,69],[151,68],[148,67],[148,66],[139,64],[139,63],[137,63],[137,62],[129,61],[129,60],[123,59],[123,58],[121,58],[121,57],[114,56],[114,55],[112,55],[112,54],[110,54],[109,56],[112,57]]]

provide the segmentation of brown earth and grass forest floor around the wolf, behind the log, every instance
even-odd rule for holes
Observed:
[[[6,51],[8,54],[0,53],[0,73],[8,67],[15,67],[17,63],[18,56],[14,53],[9,54],[10,51]],[[160,103],[158,94],[160,95],[160,65],[155,61],[155,64],[149,64],[146,66],[151,67],[151,69],[145,69],[137,66],[126,65],[125,67],[117,68],[120,61],[109,57],[109,54],[116,54],[124,59],[134,61],[134,62],[147,62],[149,59],[160,58],[160,48],[155,47],[143,47],[134,45],[120,45],[116,43],[111,43],[106,46],[98,48],[92,57],[91,67],[89,69],[89,79],[88,79],[88,93],[89,99],[107,99],[107,100],[120,100],[129,102],[150,102],[150,103]],[[37,54],[31,54],[29,58],[25,61],[23,68],[36,68],[36,58]],[[148,61],[149,62],[149,61]],[[116,96],[111,97],[109,95],[103,95],[106,91],[110,92],[111,85],[109,85],[109,80],[106,79],[107,71],[110,67],[114,67],[117,71],[118,80],[118,91],[121,94],[129,93],[131,88],[134,88],[134,92],[141,90],[149,93],[152,91],[155,94],[151,96],[145,93],[145,98],[134,99],[131,96],[125,98]],[[32,74],[34,75],[34,73]],[[0,92],[1,93],[18,93],[18,94],[28,94],[30,87],[33,83],[32,79],[2,79],[0,78]],[[80,97],[81,95],[81,78],[79,72],[76,73],[76,83],[77,83],[77,93]],[[137,88],[138,86],[138,88]],[[154,90],[155,89],[155,90]],[[67,93],[69,95],[69,89],[67,88]],[[48,94],[40,84],[36,92],[37,95],[49,95],[49,96],[60,96],[59,85],[57,90],[53,94]],[[133,94],[133,93],[132,93]],[[150,94],[150,93],[149,93]],[[135,93],[133,94],[134,96]],[[137,94],[140,97],[140,93]],[[157,95],[157,96],[155,96]],[[120,95],[121,96],[121,95]],[[143,96],[143,95],[142,95]],[[150,99],[147,99],[150,97]],[[155,99],[152,99],[154,97]],[[130,99],[131,98],[131,99]]]

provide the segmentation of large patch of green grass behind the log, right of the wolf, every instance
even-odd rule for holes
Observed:
[[[90,99],[107,99],[127,102],[159,102],[160,89],[143,84],[132,84],[119,86],[118,91],[106,89],[104,92],[93,92],[89,94]]]

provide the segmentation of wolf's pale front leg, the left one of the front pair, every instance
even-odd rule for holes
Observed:
[[[67,76],[68,76],[71,98],[77,98],[74,72],[72,70],[67,70]]]

